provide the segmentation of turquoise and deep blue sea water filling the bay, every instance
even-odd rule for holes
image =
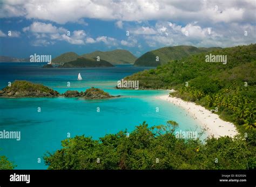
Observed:
[[[61,93],[66,90],[84,91],[101,88],[119,98],[84,100],[79,98],[1,98],[0,131],[21,131],[21,140],[0,139],[0,155],[17,164],[16,169],[46,169],[44,154],[60,148],[68,133],[98,139],[107,133],[132,131],[146,121],[149,126],[177,121],[179,130],[195,130],[196,121],[183,109],[155,96],[166,95],[164,90],[117,90],[117,81],[144,68],[130,65],[114,68],[43,69],[39,63],[0,63],[0,87],[10,81],[29,80],[42,83]],[[77,81],[81,73],[83,81]],[[66,82],[71,83],[67,87]],[[41,107],[41,112],[37,108]],[[100,112],[97,112],[99,107]],[[159,112],[156,112],[159,107]],[[199,128],[197,129],[197,131]],[[37,159],[41,158],[41,163]]]

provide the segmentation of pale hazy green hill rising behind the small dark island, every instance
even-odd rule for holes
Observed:
[[[100,60],[108,61],[112,64],[127,64],[127,63],[134,63],[137,59],[132,53],[122,49],[116,49],[114,51],[95,51],[88,54],[83,54],[83,57],[86,58],[96,58],[97,56],[100,57]]]

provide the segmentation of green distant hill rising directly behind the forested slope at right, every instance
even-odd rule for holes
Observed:
[[[216,49],[221,48],[197,48],[194,46],[163,47],[143,54],[134,62],[134,66],[159,66],[160,64],[166,64],[170,60],[181,60],[183,57],[187,57],[192,54],[214,51]],[[157,61],[157,56],[159,61]]]

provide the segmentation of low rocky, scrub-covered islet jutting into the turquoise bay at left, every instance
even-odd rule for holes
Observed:
[[[20,98],[20,97],[81,97],[84,99],[105,99],[119,96],[112,96],[98,88],[89,88],[85,92],[68,90],[63,94],[45,87],[42,84],[34,84],[28,81],[14,81],[10,86],[0,90],[0,97]]]

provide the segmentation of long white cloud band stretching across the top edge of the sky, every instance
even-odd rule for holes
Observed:
[[[39,6],[39,7],[38,7]],[[65,24],[69,21],[83,22],[83,18],[102,20],[172,20],[183,21],[185,24],[193,20],[201,23],[231,23],[238,21],[255,21],[254,1],[223,1],[223,0],[134,0],[134,1],[12,1],[3,2],[0,17],[25,17],[41,19]],[[217,7],[217,10],[216,10]],[[67,13],[74,12],[74,13]],[[119,22],[120,23],[120,22]]]

